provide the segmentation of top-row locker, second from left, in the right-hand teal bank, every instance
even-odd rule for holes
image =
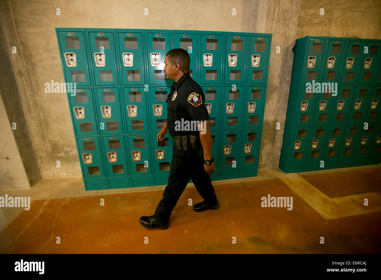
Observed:
[[[339,82],[346,42],[342,38],[327,40],[327,51],[323,60],[322,82]]]

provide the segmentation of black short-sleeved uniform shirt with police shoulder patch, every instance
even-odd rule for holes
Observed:
[[[200,131],[199,128],[195,127],[194,122],[192,123],[191,121],[199,121],[200,123],[210,118],[205,106],[203,90],[189,76],[189,72],[182,75],[177,82],[173,83],[171,94],[169,94],[166,102],[168,102],[167,125],[172,137],[183,134],[199,135],[200,132],[197,132]],[[179,121],[177,126],[176,121]],[[186,121],[189,122],[188,127],[186,127]],[[181,123],[184,124],[183,127]],[[206,127],[204,126],[203,129],[206,129]]]

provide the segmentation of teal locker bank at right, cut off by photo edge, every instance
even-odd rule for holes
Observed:
[[[303,37],[293,48],[279,168],[381,162],[381,40]]]

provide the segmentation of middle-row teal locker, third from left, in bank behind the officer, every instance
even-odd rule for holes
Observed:
[[[125,122],[128,133],[148,133],[148,91],[145,87],[123,88]]]

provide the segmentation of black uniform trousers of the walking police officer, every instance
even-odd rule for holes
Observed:
[[[199,156],[198,149],[192,149],[189,146],[189,150],[180,151],[174,143],[170,168],[168,185],[165,187],[163,199],[157,205],[154,214],[156,221],[168,223],[171,212],[190,179],[204,199],[204,203],[216,205],[217,197],[210,175],[204,170],[204,158]]]

